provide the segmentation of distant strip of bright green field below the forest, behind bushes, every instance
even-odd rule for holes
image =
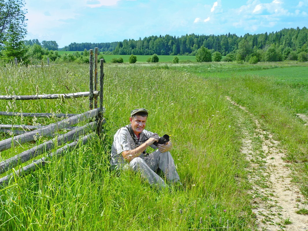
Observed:
[[[72,54],[76,51],[58,51],[60,55],[62,54]],[[81,52],[81,51],[78,51]],[[111,59],[113,58],[123,58],[124,62],[128,62],[128,58],[131,55],[104,55],[104,59],[106,62],[111,62]],[[152,55],[136,55],[137,56],[137,62],[147,62],[148,58],[151,58]],[[158,55],[159,62],[172,62],[174,55]],[[196,62],[196,56],[194,55],[179,55],[180,62]]]

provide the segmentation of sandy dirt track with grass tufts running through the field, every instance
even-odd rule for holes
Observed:
[[[244,110],[253,118],[245,107],[227,100]],[[308,230],[308,216],[297,214],[301,208],[308,209],[304,196],[298,187],[291,182],[292,170],[282,160],[286,150],[280,148],[279,141],[273,134],[261,129],[258,120],[254,120],[257,129],[253,136],[243,131],[241,152],[250,161],[249,181],[252,184],[250,193],[253,196],[252,211],[255,214],[257,230]]]

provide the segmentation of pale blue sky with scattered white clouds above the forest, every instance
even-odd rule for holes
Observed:
[[[308,26],[308,0],[25,0],[26,39],[117,42],[151,35],[237,34]]]

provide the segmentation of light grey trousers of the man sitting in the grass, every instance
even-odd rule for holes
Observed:
[[[161,153],[156,149],[148,156],[141,154],[132,159],[129,166],[136,172],[140,172],[150,185],[157,185],[160,189],[165,188],[164,180],[157,175],[157,171],[162,171],[168,181],[171,183],[180,182],[180,177],[176,172],[173,158],[170,152]]]

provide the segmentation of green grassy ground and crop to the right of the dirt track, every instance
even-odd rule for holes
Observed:
[[[276,134],[287,149],[286,161],[297,170],[294,181],[308,197],[308,128],[296,116],[308,115],[307,63],[239,64],[233,68],[228,64],[208,64],[202,69],[205,71],[186,67],[187,71],[217,82],[224,88],[224,94],[245,106],[264,129]],[[229,74],[220,73],[221,70]]]

